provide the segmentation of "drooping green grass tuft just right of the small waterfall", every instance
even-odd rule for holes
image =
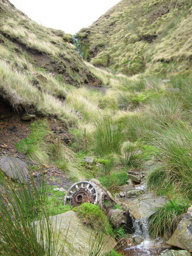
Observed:
[[[157,208],[157,212],[148,222],[149,234],[154,239],[158,235],[170,237],[180,221],[180,216],[187,212],[189,206],[189,202],[185,200],[170,200],[163,207]]]

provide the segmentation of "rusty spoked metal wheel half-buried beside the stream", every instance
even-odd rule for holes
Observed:
[[[64,205],[80,206],[83,203],[97,204],[96,186],[90,181],[79,181],[73,184],[64,198]]]

